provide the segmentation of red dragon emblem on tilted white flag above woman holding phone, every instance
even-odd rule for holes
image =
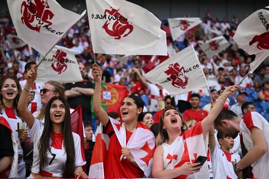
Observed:
[[[164,71],[164,73],[170,76],[169,78],[167,78],[167,80],[169,81],[172,80],[173,86],[184,89],[186,88],[185,86],[188,84],[189,78],[186,77],[185,75],[183,75],[183,78],[185,79],[185,81],[179,78],[179,73],[181,73],[182,70],[185,70],[184,67],[180,68],[179,63],[175,63],[175,64],[170,64],[168,67],[168,70]]]

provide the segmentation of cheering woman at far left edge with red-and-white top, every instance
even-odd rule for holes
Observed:
[[[16,133],[18,124],[22,122],[20,112],[18,111],[18,101],[20,99],[22,89],[16,77],[4,76],[0,80],[0,114],[8,121],[12,131]],[[25,102],[27,103],[27,99]],[[25,178],[25,162],[23,161],[23,152],[21,141],[18,133],[15,135],[18,143],[18,175],[19,178]]]

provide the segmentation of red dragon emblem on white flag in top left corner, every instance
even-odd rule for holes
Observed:
[[[41,25],[51,25],[49,21],[54,14],[49,10],[47,0],[27,0],[22,2],[21,14],[22,24],[25,24],[29,29],[39,32]],[[38,21],[35,21],[35,19]]]

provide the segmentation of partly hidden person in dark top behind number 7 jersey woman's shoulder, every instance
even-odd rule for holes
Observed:
[[[84,143],[84,148],[85,148],[85,158],[86,158],[86,169],[87,169],[87,174],[89,174],[90,170],[90,161],[92,157],[92,151],[94,148],[95,142],[92,141],[92,136],[93,136],[93,131],[92,131],[92,125],[90,121],[83,121],[84,124],[84,130],[86,134],[86,142]]]

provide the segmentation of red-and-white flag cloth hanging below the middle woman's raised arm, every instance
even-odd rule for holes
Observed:
[[[105,166],[109,149],[109,136],[103,134],[103,124],[97,129],[92,158],[90,161],[89,179],[105,179]]]

